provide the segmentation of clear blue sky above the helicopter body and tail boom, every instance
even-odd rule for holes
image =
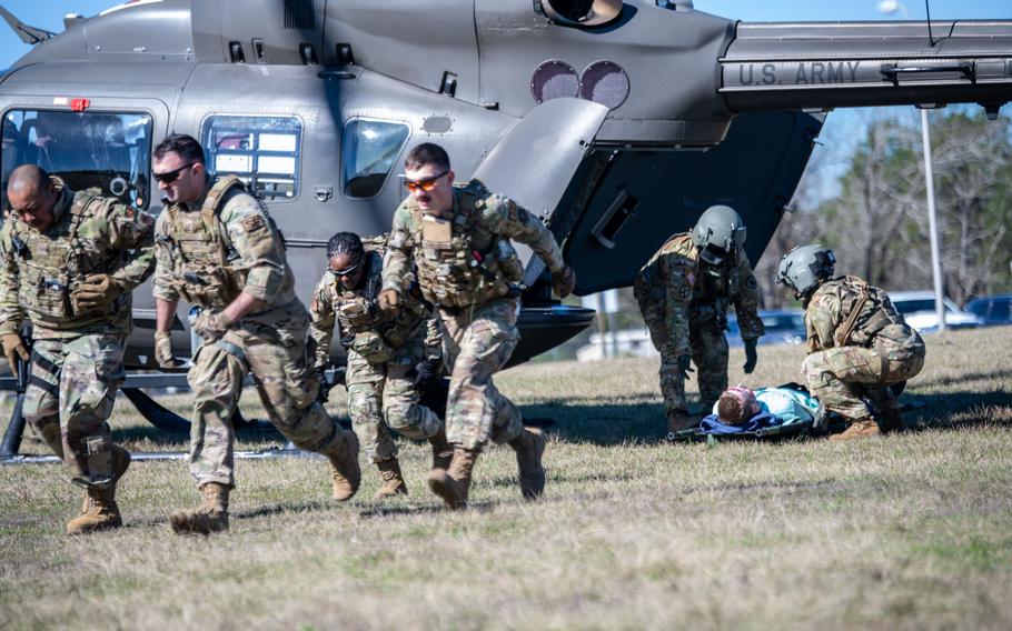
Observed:
[[[199,1],[199,0],[195,0]],[[330,0],[340,1],[340,0]],[[376,0],[381,2],[383,0]],[[424,1],[424,0],[419,0]],[[876,10],[880,0],[696,0],[696,9],[741,20],[877,20],[887,17]],[[59,32],[63,14],[73,12],[95,16],[112,7],[115,0],[6,0],[0,2],[22,22]],[[924,19],[923,0],[901,0],[906,17]],[[932,0],[932,19],[1004,18],[1012,19],[1012,0]],[[902,16],[897,13],[896,18]],[[7,68],[29,50],[6,23],[0,23],[0,68]]]

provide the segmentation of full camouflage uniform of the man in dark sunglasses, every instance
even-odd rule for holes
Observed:
[[[236,178],[211,186],[192,203],[166,208],[156,227],[155,297],[185,298],[221,310],[245,291],[266,307],[202,344],[187,377],[194,392],[190,472],[198,487],[235,487],[232,414],[252,373],[270,422],[301,449],[340,449],[341,431],[315,402],[319,382],[307,357],[309,314],[280,234]]]

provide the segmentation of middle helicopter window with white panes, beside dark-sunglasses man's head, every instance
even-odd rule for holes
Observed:
[[[302,123],[294,117],[210,117],[202,146],[215,174],[236,176],[262,199],[299,192]]]

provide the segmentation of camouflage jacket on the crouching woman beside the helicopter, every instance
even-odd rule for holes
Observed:
[[[383,284],[383,257],[378,252],[366,252],[366,271],[358,289],[341,289],[337,279],[325,272],[312,292],[309,335],[315,342],[315,365],[324,368],[329,361],[335,324],[341,345],[355,349],[367,361],[377,342],[397,349],[423,335],[425,357],[441,357],[438,323],[428,304],[407,288],[401,291],[400,308],[396,313],[385,313],[376,308],[376,297]]]

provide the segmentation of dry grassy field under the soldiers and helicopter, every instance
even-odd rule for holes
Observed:
[[[231,532],[210,539],[167,524],[197,499],[183,462],[135,463],[126,528],[77,539],[66,472],[6,467],[0,628],[1010,629],[1012,328],[927,344],[904,395],[927,403],[917,431],[842,444],[666,444],[657,360],[507,371],[524,413],[555,419],[548,487],[523,502],[494,448],[466,513],[427,492],[428,449],[408,441],[410,495],[381,505],[371,468],[338,504],[320,460],[240,461]],[[796,380],[802,355],[761,348],[747,382]],[[113,425],[131,450],[183,448],[130,410]]]

